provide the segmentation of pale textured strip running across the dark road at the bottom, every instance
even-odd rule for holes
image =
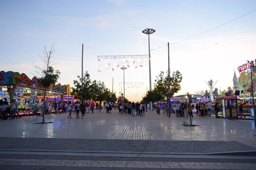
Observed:
[[[247,169],[253,170],[256,163],[204,163],[204,162],[128,162],[91,160],[39,160],[0,159],[1,165],[20,166],[70,166],[70,167],[119,167],[119,168],[171,168],[171,169]]]

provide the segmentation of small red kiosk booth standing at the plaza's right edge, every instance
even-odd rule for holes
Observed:
[[[224,119],[237,119],[238,120],[238,109],[237,109],[237,97],[226,96],[216,97],[216,101],[219,103],[218,116]]]

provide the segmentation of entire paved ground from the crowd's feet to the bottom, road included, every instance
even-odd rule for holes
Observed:
[[[103,112],[102,112],[103,111]],[[0,120],[1,169],[255,169],[253,120],[117,110]]]

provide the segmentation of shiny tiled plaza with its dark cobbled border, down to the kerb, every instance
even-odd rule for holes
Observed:
[[[163,112],[162,112],[163,113]],[[199,117],[196,127],[182,126],[187,118],[157,115],[86,114],[84,119],[68,119],[68,113],[0,120],[2,150],[79,150],[97,152],[216,153],[256,150],[253,120],[225,120]]]

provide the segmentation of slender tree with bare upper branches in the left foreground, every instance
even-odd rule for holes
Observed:
[[[39,55],[43,66],[40,67],[39,65],[35,65],[36,73],[37,73],[37,80],[38,82],[45,88],[45,92],[43,95],[43,122],[45,123],[45,95],[46,95],[46,88],[49,87],[51,84],[55,84],[60,76],[60,71],[56,70],[54,71],[53,65],[56,64],[56,61],[53,60],[53,54],[55,54],[54,44],[52,44],[52,47],[49,51],[46,50],[46,47],[44,50],[42,50],[43,55]]]

